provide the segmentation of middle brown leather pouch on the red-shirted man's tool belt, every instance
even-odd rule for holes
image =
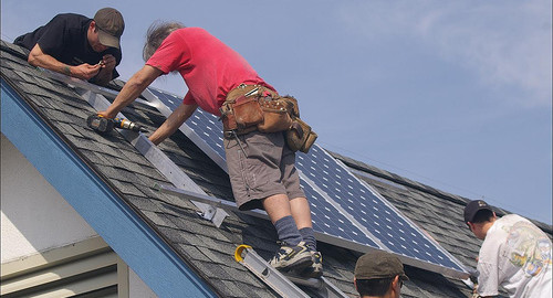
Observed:
[[[259,131],[278,132],[290,129],[292,118],[284,100],[262,97],[259,99],[259,105],[263,110],[263,121],[258,124]]]

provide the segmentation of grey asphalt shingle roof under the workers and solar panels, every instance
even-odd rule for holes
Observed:
[[[169,181],[122,135],[113,131],[98,135],[86,127],[86,117],[95,110],[66,84],[44,76],[30,66],[27,51],[1,42],[1,75],[43,117],[86,163],[112,185],[121,199],[149,224],[222,297],[278,297],[246,267],[233,259],[234,248],[249,244],[269,259],[276,249],[272,224],[242,213],[232,213],[217,228],[198,216],[188,200],[163,194],[155,183]],[[111,87],[121,89],[123,82]],[[134,103],[123,110],[132,121],[155,130],[164,120],[154,108]],[[322,131],[324,134],[324,131]],[[158,146],[206,193],[233,201],[227,173],[221,170],[185,135],[177,131]],[[444,248],[463,264],[474,267],[480,241],[462,223],[467,199],[445,193],[416,181],[333,153],[357,175],[417,223]],[[505,211],[498,210],[499,213]],[[550,225],[538,223],[551,236]],[[324,276],[341,290],[356,297],[353,269],[359,253],[320,243],[324,257]],[[403,297],[470,297],[471,290],[460,280],[425,269],[406,266],[410,277]]]

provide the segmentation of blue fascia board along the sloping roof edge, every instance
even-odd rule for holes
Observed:
[[[1,131],[159,297],[217,297],[211,288],[9,86]]]

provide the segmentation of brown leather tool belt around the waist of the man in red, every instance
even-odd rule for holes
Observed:
[[[222,104],[221,120],[225,137],[285,131],[292,151],[307,152],[317,135],[300,119],[298,100],[260,85],[240,84],[229,92]]]

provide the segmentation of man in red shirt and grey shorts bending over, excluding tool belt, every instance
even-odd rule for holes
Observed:
[[[136,99],[158,76],[179,72],[188,86],[182,104],[149,137],[158,145],[173,135],[199,106],[220,116],[228,97],[252,86],[278,96],[250,64],[232,49],[200,28],[180,23],[153,24],[144,46],[146,65],[131,77],[113,104],[100,115],[113,118]],[[295,153],[282,131],[258,130],[225,137],[229,177],[240,210],[264,209],[276,228],[281,248],[270,264],[310,277],[322,275],[322,257],[311,222],[310,204],[300,187]]]

